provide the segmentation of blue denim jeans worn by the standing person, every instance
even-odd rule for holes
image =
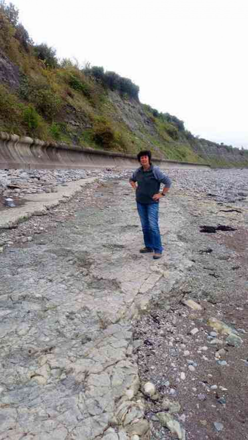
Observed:
[[[162,253],[163,246],[159,231],[159,203],[139,203],[137,210],[141,218],[141,226],[144,235],[144,245],[153,249],[155,253]]]

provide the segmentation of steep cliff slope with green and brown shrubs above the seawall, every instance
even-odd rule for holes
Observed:
[[[0,77],[0,131],[131,154],[150,149],[178,161],[228,165],[236,155],[237,165],[248,164],[248,151],[232,146],[214,144],[227,158],[207,156],[207,141],[176,116],[141,104],[139,87],[129,78],[102,66],[82,69],[77,61],[59,60],[47,44],[34,44],[18,9],[4,0],[0,48],[9,70]]]

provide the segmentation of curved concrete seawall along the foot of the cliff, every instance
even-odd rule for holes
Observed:
[[[207,164],[153,158],[164,168],[210,168]],[[136,168],[137,158],[114,151],[69,147],[0,132],[0,169]]]

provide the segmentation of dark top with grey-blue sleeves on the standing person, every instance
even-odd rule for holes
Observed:
[[[130,180],[137,182],[136,200],[144,204],[158,203],[158,201],[152,199],[152,196],[159,192],[160,183],[163,183],[167,188],[171,186],[170,178],[163,174],[158,166],[154,165],[151,165],[147,171],[144,171],[141,166],[133,172]]]

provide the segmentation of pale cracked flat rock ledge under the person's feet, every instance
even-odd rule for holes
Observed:
[[[169,205],[161,228],[174,237],[183,217]],[[138,252],[126,180],[89,185],[0,237],[0,439],[148,439],[132,322],[192,262],[176,241],[159,263]]]

